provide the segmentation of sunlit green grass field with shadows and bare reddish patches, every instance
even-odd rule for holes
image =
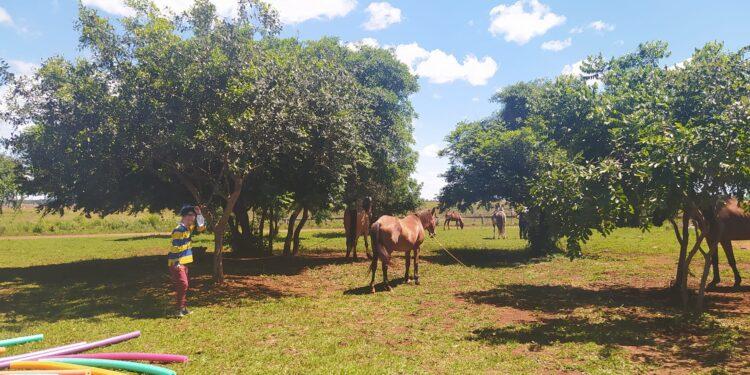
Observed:
[[[428,239],[422,285],[400,283],[397,257],[394,291],[372,295],[368,263],[342,259],[340,232],[303,232],[297,259],[227,259],[226,286],[211,283],[210,264],[192,267],[194,313],[182,320],[169,317],[165,238],[4,239],[0,337],[46,335],[15,354],[138,329],[141,338],[114,349],[189,355],[171,366],[187,374],[735,373],[750,365],[750,290],[722,288],[709,294],[709,313],[683,314],[665,292],[670,231],[620,229],[574,261],[530,257],[514,228],[509,240],[491,233],[439,231],[469,268]],[[737,255],[747,275],[750,257]],[[724,265],[722,276],[731,280]]]

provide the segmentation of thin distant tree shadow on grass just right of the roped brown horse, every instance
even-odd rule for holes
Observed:
[[[528,249],[449,249],[449,251],[467,266],[478,268],[515,267],[548,259],[547,256],[536,255]],[[422,255],[420,258],[442,266],[456,264],[456,261],[443,250],[437,250],[430,255]]]

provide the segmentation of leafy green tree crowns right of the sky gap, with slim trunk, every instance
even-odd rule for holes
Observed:
[[[446,138],[441,201],[528,207],[532,248],[564,239],[570,256],[594,231],[669,220],[682,266],[688,221],[750,188],[747,51],[711,42],[663,66],[667,44],[649,42],[609,60],[592,56],[580,76],[506,87],[493,97],[495,115],[459,123]]]

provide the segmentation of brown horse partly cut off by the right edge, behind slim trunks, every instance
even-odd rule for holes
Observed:
[[[716,213],[716,225],[711,225],[706,235],[706,240],[711,251],[716,255],[711,259],[713,263],[714,278],[709,286],[716,286],[721,282],[719,277],[719,252],[718,245],[724,248],[724,254],[734,272],[734,286],[742,283],[740,271],[737,269],[737,261],[734,259],[732,241],[750,240],[750,213],[740,208],[737,199],[729,198]]]

